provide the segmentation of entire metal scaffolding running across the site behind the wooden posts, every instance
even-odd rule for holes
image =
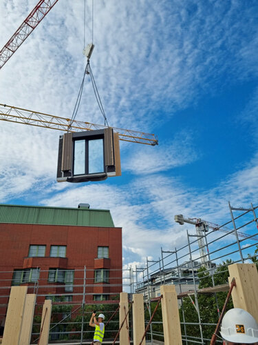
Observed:
[[[72,282],[70,279],[62,281],[64,277],[62,270],[59,270],[61,273],[59,281],[58,273],[54,277],[50,275],[50,271],[40,269],[38,273],[30,273],[26,276],[29,281],[23,282],[21,279],[20,283],[27,286],[28,293],[36,295],[31,344],[37,344],[40,337],[45,299],[52,300],[50,324],[52,342],[92,344],[94,330],[88,324],[93,311],[105,313],[107,319],[111,317],[109,326],[105,330],[106,344],[114,344],[116,341],[121,319],[126,322],[128,337],[133,339],[132,311],[123,306],[125,310],[120,308],[119,317],[112,316],[119,305],[121,306],[119,294],[121,295],[122,291],[127,291],[129,304],[133,303],[134,296],[142,295],[145,340],[148,344],[163,344],[164,324],[161,313],[157,311],[153,317],[153,311],[160,308],[160,306],[155,307],[160,302],[164,286],[171,285],[175,287],[178,298],[182,342],[209,344],[229,289],[228,265],[258,261],[258,250],[256,250],[258,221],[255,213],[258,206],[254,207],[250,204],[250,208],[234,208],[230,203],[228,206],[231,219],[219,227],[228,226],[231,228],[230,231],[219,232],[218,227],[203,232],[200,242],[200,234],[196,234],[195,229],[186,230],[186,244],[182,248],[161,248],[160,257],[158,259],[147,257],[144,267],[136,266],[116,272],[110,270],[108,282],[105,274],[99,281],[94,275],[94,270],[86,267],[74,270]],[[239,229],[244,231],[245,237],[239,237]],[[205,246],[204,250],[200,250],[200,243]],[[205,253],[205,259],[202,258],[202,253]],[[112,282],[112,279],[116,281]],[[117,283],[119,279],[120,284]],[[11,286],[19,285],[18,283],[17,279],[14,279],[13,271],[0,272],[0,324],[1,319],[6,315]],[[210,302],[211,305],[206,305]],[[213,319],[205,317],[205,308]],[[127,342],[130,343],[130,340],[127,339]],[[217,339],[217,342],[222,342],[222,339]]]

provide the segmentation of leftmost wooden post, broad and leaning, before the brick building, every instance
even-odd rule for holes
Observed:
[[[19,345],[28,286],[12,286],[2,345]]]

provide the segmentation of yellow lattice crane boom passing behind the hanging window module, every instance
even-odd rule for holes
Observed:
[[[16,122],[17,124],[27,124],[36,127],[51,128],[54,130],[63,130],[64,132],[80,132],[83,130],[98,130],[107,128],[107,126],[91,124],[84,121],[72,121],[65,117],[45,114],[28,109],[7,106],[0,103],[0,120]],[[150,133],[138,132],[136,130],[127,130],[122,128],[114,128],[114,132],[118,132],[119,139],[122,141],[130,141],[138,144],[155,146],[158,145],[158,139]]]

